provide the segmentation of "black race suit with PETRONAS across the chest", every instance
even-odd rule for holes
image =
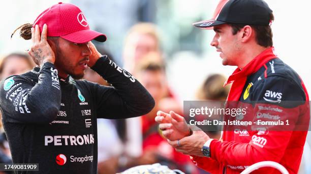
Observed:
[[[153,108],[146,89],[107,56],[92,69],[114,88],[58,80],[51,63],[2,81],[2,119],[14,163],[39,163],[39,173],[97,173],[97,118],[130,118]]]

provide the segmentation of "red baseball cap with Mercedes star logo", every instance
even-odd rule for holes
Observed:
[[[47,24],[47,36],[59,36],[74,43],[85,43],[92,39],[104,42],[105,34],[89,29],[81,10],[72,4],[58,3],[43,11],[35,20],[33,27],[39,25],[42,32]]]

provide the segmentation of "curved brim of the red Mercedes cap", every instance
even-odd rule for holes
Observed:
[[[64,38],[66,40],[69,40],[74,43],[85,43],[92,39],[95,39],[96,41],[104,42],[107,40],[107,37],[105,34],[91,30],[91,29],[85,29],[80,30],[77,32],[73,32],[70,34],[62,35],[61,38]]]

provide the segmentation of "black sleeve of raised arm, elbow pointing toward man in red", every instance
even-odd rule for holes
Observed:
[[[100,118],[119,119],[144,115],[154,107],[154,100],[140,82],[107,56],[92,67],[114,88],[95,84],[92,95]]]

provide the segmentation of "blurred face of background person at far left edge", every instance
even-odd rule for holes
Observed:
[[[34,61],[26,54],[11,53],[1,59],[0,79],[3,80],[11,75],[19,75],[31,70],[35,66]]]

